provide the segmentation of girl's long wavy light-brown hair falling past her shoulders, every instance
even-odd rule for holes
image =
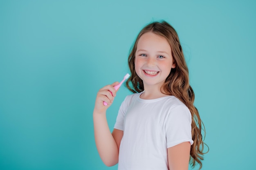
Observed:
[[[182,101],[191,112],[191,133],[194,143],[192,144],[190,149],[190,163],[191,166],[194,168],[197,162],[200,165],[200,170],[202,168],[202,160],[204,159],[203,155],[209,151],[209,147],[204,143],[202,137],[202,130],[204,130],[204,124],[200,119],[197,108],[195,108],[195,106],[193,105],[195,95],[193,89],[189,85],[189,70],[186,65],[182,47],[180,45],[180,40],[175,29],[167,22],[152,22],[146,25],[139,32],[128,57],[128,65],[130,68],[131,76],[126,81],[126,87],[133,93],[140,93],[144,91],[143,81],[135,72],[135,53],[137,50],[137,43],[139,41],[139,38],[141,37],[141,35],[148,32],[152,32],[166,38],[171,46],[173,60],[176,64],[176,67],[171,69],[171,72],[166,78],[165,83],[161,88],[161,91],[164,94],[173,95],[180,99],[180,101]],[[203,152],[204,145],[206,145],[208,148],[207,152]]]

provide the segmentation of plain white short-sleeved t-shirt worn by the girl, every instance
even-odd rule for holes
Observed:
[[[128,95],[117,115],[114,128],[124,131],[118,170],[168,170],[167,148],[185,141],[193,144],[191,113],[174,96],[140,95]]]

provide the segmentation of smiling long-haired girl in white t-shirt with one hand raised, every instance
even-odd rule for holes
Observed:
[[[107,166],[118,170],[202,168],[202,122],[176,31],[167,22],[145,26],[128,57],[131,76],[112,133],[106,120],[115,82],[99,90],[93,119],[95,142]],[[103,101],[108,105],[104,106]]]

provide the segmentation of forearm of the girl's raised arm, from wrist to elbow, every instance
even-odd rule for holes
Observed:
[[[113,138],[105,114],[93,113],[94,137],[99,155],[106,166],[118,163],[118,147]]]

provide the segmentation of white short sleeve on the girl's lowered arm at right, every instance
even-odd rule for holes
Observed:
[[[193,144],[191,134],[191,113],[185,105],[177,105],[170,109],[165,124],[167,148],[185,141]]]

